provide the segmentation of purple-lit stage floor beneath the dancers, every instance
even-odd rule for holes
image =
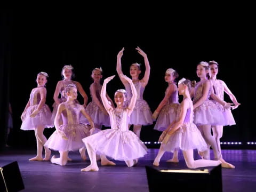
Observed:
[[[22,191],[149,191],[145,166],[151,166],[158,149],[149,149],[148,154],[134,167],[115,161],[116,166],[101,166],[98,172],[81,172],[90,164],[89,158],[82,161],[78,151],[69,154],[73,161],[66,166],[48,162],[29,162],[36,150],[6,150],[0,154],[0,166],[18,161],[25,189]],[[53,151],[52,155],[59,154]],[[256,150],[222,150],[223,158],[236,166],[222,169],[223,191],[256,190]],[[182,153],[179,163],[166,163],[171,153],[165,153],[159,169],[187,169]],[[211,156],[213,156],[211,151]],[[195,153],[195,159],[199,156]],[[199,183],[198,183],[199,185]],[[171,187],[172,188],[172,187]]]

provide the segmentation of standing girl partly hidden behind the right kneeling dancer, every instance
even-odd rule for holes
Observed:
[[[158,107],[153,113],[153,119],[157,121],[154,126],[154,130],[164,131],[177,116],[177,109],[179,106],[178,87],[175,84],[175,79],[178,78],[178,73],[174,69],[167,69],[165,72],[165,82],[168,83],[168,87],[165,91],[164,99],[159,103]],[[158,116],[159,115],[159,116]],[[178,150],[173,153],[172,159],[167,162],[179,162]]]

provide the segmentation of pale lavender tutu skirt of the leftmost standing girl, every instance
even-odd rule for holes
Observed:
[[[39,113],[35,117],[30,117],[30,115],[37,109],[38,105],[29,106],[24,114],[24,119],[21,124],[21,130],[35,130],[39,125],[43,125],[45,128],[54,127],[53,121],[51,120],[51,110],[44,104]]]

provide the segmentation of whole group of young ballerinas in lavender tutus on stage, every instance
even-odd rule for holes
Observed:
[[[125,76],[121,64],[124,48],[119,51],[116,70],[125,89],[115,92],[116,107],[107,94],[107,84],[115,75],[107,77],[101,85],[101,68],[92,70],[92,101],[86,105],[87,94],[82,85],[72,79],[73,67],[64,66],[61,71],[63,80],[58,82],[54,92],[53,112],[45,104],[48,75],[45,72],[37,74],[37,87],[31,91],[21,115],[21,130],[34,130],[36,136],[37,155],[29,161],[50,160],[54,164],[66,165],[71,161],[69,151],[79,150],[85,160],[87,150],[91,164],[81,171],[98,171],[98,159],[101,159],[103,166],[115,165],[107,157],[124,161],[131,167],[138,163],[140,157],[147,154],[147,147],[140,140],[141,127],[156,121],[154,129],[162,134],[159,137],[161,147],[153,165],[159,166],[165,151],[173,153],[173,158],[167,162],[179,162],[178,151],[182,150],[189,168],[219,164],[222,167],[234,168],[235,166],[227,163],[221,155],[220,138],[223,126],[235,124],[230,108],[235,109],[240,103],[225,82],[217,79],[218,63],[198,63],[196,73],[200,81],[196,83],[181,78],[178,86],[175,83],[179,76],[177,71],[167,69],[164,78],[168,87],[164,99],[152,114],[148,103],[143,99],[150,75],[149,61],[147,54],[140,47],[135,50],[144,58],[145,75],[139,79],[140,65],[133,63],[130,66],[131,78]],[[77,91],[84,99],[83,105],[77,100]],[[224,92],[233,103],[223,100]],[[181,103],[178,94],[183,96]],[[101,130],[102,125],[110,126],[111,129]],[[133,132],[129,130],[131,125]],[[55,127],[56,130],[46,139],[43,131],[50,127]],[[213,160],[210,160],[210,147],[214,152]],[[194,160],[194,149],[197,149],[202,159]],[[59,151],[60,157],[51,157],[51,150]]]

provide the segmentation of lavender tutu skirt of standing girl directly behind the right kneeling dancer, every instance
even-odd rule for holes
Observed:
[[[173,121],[176,120],[179,103],[170,103],[160,111],[154,130],[164,131]]]

